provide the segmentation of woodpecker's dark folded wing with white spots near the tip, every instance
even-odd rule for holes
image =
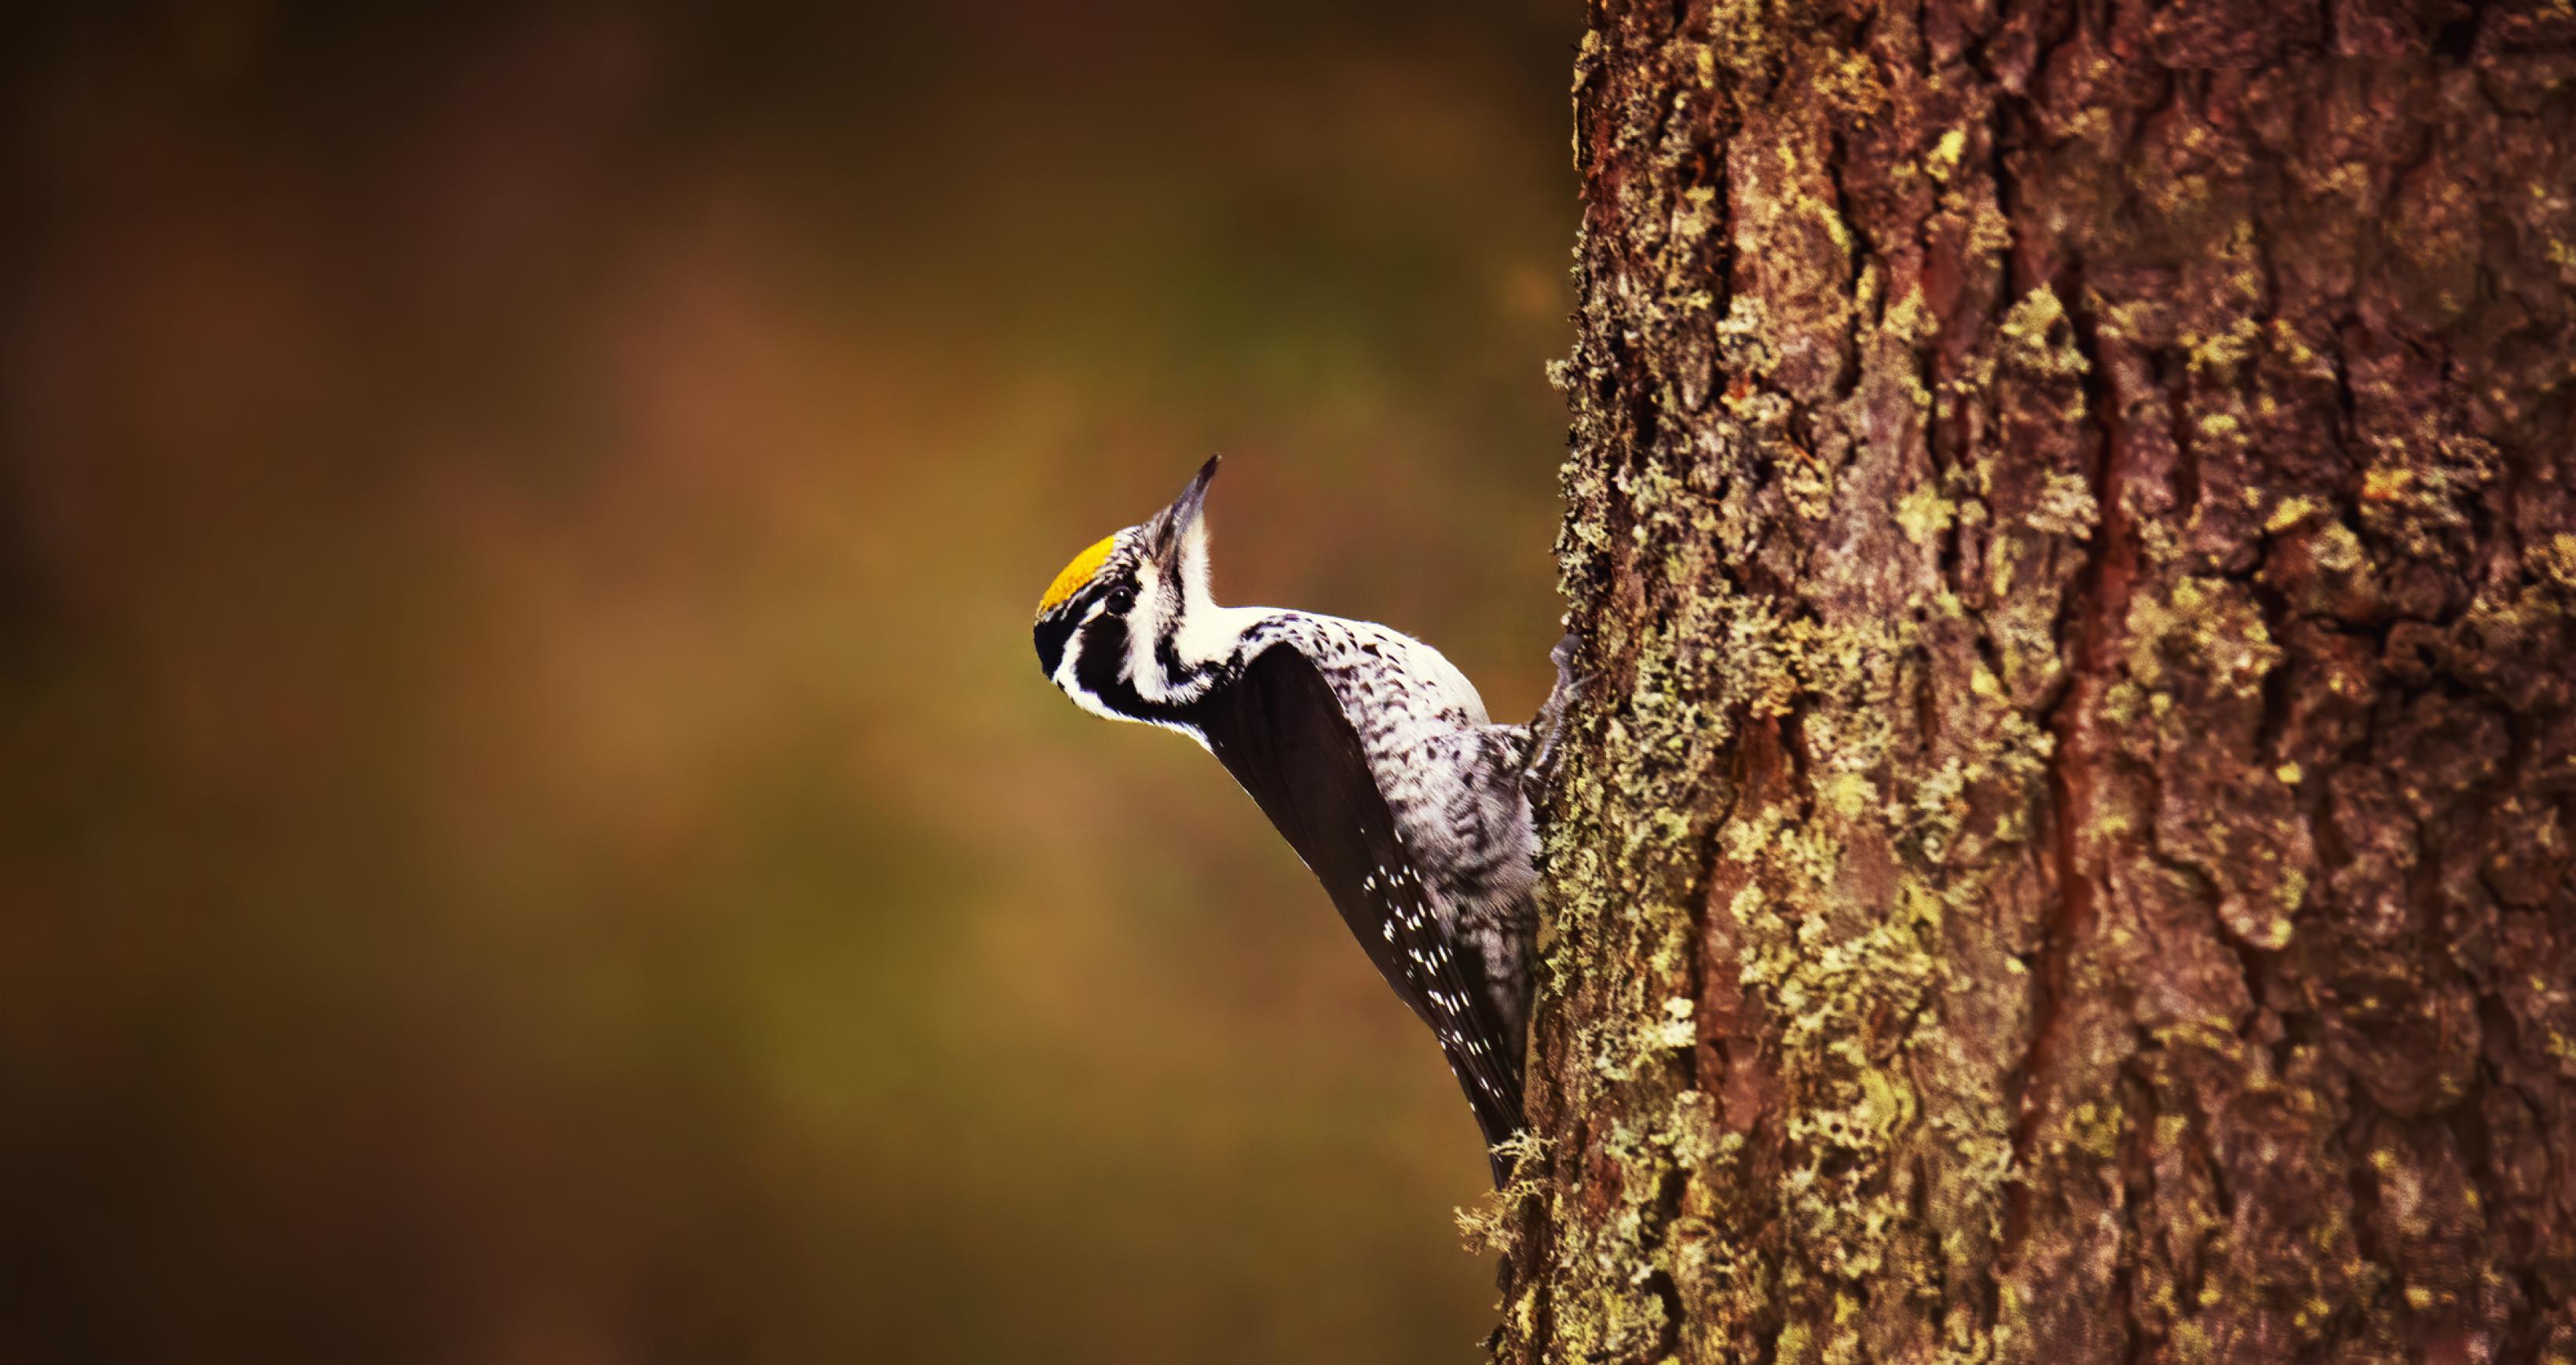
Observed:
[[[1504,1035],[1484,963],[1443,932],[1324,675],[1293,646],[1273,646],[1190,711],[1208,749],[1324,883],[1368,961],[1440,1038],[1486,1146],[1522,1131],[1520,1040]],[[1507,1174],[1497,1156],[1494,1182]]]

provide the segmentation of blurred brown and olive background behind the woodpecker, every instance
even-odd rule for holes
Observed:
[[[1028,621],[1224,451],[1538,703],[1574,5],[49,10],[0,1362],[1476,1355],[1448,1071]]]

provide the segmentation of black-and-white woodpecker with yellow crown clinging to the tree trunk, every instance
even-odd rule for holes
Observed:
[[[1543,780],[1571,636],[1530,726],[1497,726],[1437,649],[1368,621],[1221,608],[1203,505],[1216,458],[1151,520],[1077,554],[1038,600],[1038,664],[1077,706],[1195,739],[1234,775],[1386,984],[1430,1025],[1484,1131],[1525,1128],[1522,1051]]]

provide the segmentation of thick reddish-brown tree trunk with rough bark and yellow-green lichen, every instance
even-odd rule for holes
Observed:
[[[2576,8],[1574,82],[1499,1360],[2576,1360]]]

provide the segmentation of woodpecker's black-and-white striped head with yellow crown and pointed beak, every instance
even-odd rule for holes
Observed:
[[[1190,626],[1218,616],[1200,515],[1213,476],[1211,456],[1170,507],[1077,554],[1038,598],[1038,667],[1084,711],[1149,721],[1206,690],[1213,652]]]

